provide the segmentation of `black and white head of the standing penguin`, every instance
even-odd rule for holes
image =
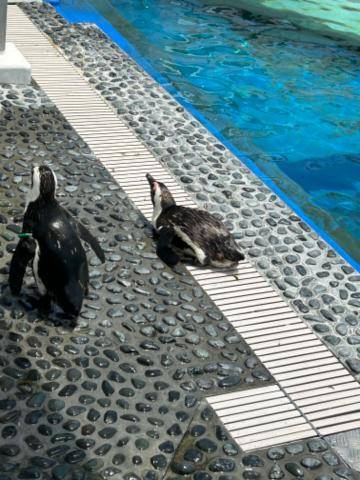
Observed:
[[[27,194],[27,205],[41,199],[45,202],[55,198],[57,180],[55,173],[47,165],[33,167],[31,170],[31,187]]]

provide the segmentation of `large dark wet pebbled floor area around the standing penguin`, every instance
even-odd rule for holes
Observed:
[[[0,86],[0,105],[0,480],[160,480],[207,393],[273,380],[42,92]],[[30,271],[7,285],[41,162],[106,252],[75,330],[38,317]]]

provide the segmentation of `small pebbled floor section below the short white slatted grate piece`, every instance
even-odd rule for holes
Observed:
[[[202,402],[164,480],[356,479],[325,440],[311,438],[243,452]]]

